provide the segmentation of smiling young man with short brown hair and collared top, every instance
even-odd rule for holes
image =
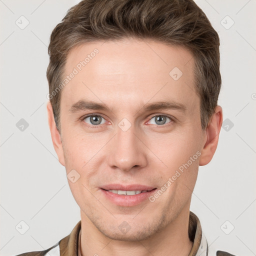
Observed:
[[[217,147],[219,38],[192,0],[83,0],[53,29],[48,122],[81,220],[20,255],[209,253],[189,210]]]

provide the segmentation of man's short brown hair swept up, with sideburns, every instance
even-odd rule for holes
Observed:
[[[82,0],[72,6],[50,35],[47,68],[50,102],[60,131],[59,93],[68,52],[84,42],[126,37],[184,46],[194,56],[201,127],[217,105],[221,85],[219,37],[193,0]]]

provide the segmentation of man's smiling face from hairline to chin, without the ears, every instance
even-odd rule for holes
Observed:
[[[70,51],[64,76],[75,75],[61,91],[57,153],[79,177],[68,182],[82,222],[138,240],[189,209],[206,141],[193,66],[185,48],[148,40]]]

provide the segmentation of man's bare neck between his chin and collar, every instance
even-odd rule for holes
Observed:
[[[144,240],[114,240],[101,233],[81,211],[80,255],[187,256],[193,242],[188,237],[189,205],[175,219]]]

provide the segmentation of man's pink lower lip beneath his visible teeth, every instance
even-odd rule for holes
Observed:
[[[134,194],[134,195],[123,195],[123,194],[115,194],[100,188],[103,194],[110,200],[112,203],[119,206],[135,206],[141,203],[142,201],[148,199],[148,197],[155,192],[156,188],[151,191],[147,191],[144,193]]]

